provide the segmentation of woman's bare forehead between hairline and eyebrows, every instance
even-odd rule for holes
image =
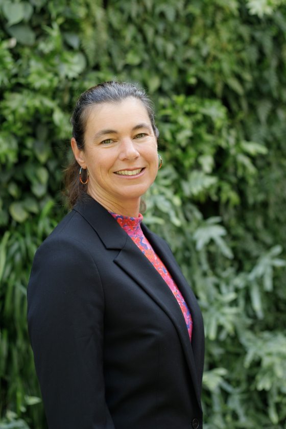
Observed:
[[[119,102],[91,106],[86,121],[86,132],[106,127],[112,129],[134,127],[143,122],[151,126],[146,107],[140,100],[130,97]]]

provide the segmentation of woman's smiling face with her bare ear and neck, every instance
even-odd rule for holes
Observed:
[[[110,211],[138,216],[140,197],[158,171],[157,139],[142,102],[127,98],[89,108],[81,151],[75,157],[89,172],[88,194]]]

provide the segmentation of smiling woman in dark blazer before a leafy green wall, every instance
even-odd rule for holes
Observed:
[[[152,105],[105,82],[71,123],[73,209],[38,249],[28,288],[49,428],[202,427],[201,312],[169,246],[140,223],[161,163]]]

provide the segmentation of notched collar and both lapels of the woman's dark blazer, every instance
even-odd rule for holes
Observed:
[[[86,197],[83,202],[75,205],[74,210],[80,213],[90,226],[96,230],[107,249],[121,249],[115,257],[114,263],[127,272],[173,321],[185,352],[196,397],[201,408],[201,391],[199,387],[201,380],[198,380],[197,377],[197,365],[201,367],[203,356],[195,356],[193,353],[185,320],[179,305],[174,305],[173,293],[166,286],[165,281],[151,262],[142,254],[140,249],[128,237],[128,234],[101,204],[91,197]],[[202,318],[195,296],[181,273],[169,246],[160,237],[153,234],[144,224],[141,224],[141,226],[154,251],[169,270],[189,306],[193,321],[195,321],[195,329],[192,336],[193,344],[203,332]]]

